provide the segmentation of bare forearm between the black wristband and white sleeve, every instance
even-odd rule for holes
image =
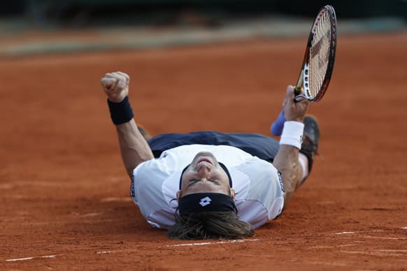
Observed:
[[[116,125],[117,137],[120,144],[120,152],[127,174],[131,176],[134,168],[139,163],[153,159],[150,146],[138,131],[134,119],[124,124]]]

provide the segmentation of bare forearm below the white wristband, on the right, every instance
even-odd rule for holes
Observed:
[[[285,188],[285,202],[290,200],[297,185],[301,181],[302,168],[298,159],[299,149],[290,145],[280,145],[274,158],[273,165],[283,176]]]

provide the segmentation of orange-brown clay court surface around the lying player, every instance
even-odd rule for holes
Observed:
[[[169,240],[129,198],[100,78],[153,134],[270,135],[305,39],[1,59],[2,270],[406,270],[407,34],[340,36],[320,156],[247,240]],[[34,258],[32,258],[34,257]]]

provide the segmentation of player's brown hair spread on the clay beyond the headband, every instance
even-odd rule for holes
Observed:
[[[175,214],[176,224],[168,237],[182,240],[241,239],[255,235],[252,226],[238,219],[236,212],[196,212]]]

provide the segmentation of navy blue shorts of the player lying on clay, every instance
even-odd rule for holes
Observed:
[[[219,133],[215,131],[166,133],[151,138],[148,140],[148,144],[155,157],[159,157],[166,149],[183,145],[227,145],[242,149],[269,162],[273,162],[278,147],[280,147],[276,139],[257,133]]]

